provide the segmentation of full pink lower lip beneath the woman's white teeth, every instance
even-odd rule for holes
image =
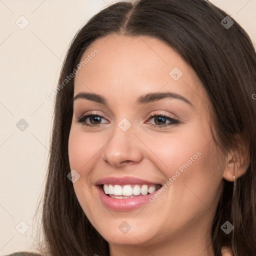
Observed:
[[[118,198],[112,198],[106,195],[100,185],[96,185],[96,188],[98,190],[99,197],[103,202],[103,204],[107,208],[116,210],[116,211],[126,211],[126,210],[133,210],[133,209],[139,208],[141,205],[147,202],[150,202],[149,197],[154,195],[154,193],[157,193],[157,191],[160,189],[158,188],[154,192],[147,195],[118,199]]]

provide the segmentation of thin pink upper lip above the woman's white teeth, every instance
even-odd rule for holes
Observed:
[[[125,184],[160,184],[157,182],[152,182],[148,181],[145,179],[141,178],[136,178],[136,177],[105,177],[105,178],[100,178],[95,182],[96,185],[102,185],[102,184],[119,184],[119,185],[125,185]],[[161,184],[160,184],[161,185]]]

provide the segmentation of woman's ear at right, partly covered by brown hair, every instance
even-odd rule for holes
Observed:
[[[241,142],[236,136],[236,142],[233,149],[229,151],[226,156],[225,168],[223,171],[223,178],[227,181],[234,181],[235,179],[243,175],[250,164],[250,151],[248,145],[245,142]]]

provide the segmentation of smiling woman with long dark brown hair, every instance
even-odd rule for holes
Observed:
[[[208,1],[94,15],[56,90],[41,254],[256,255],[255,70]]]

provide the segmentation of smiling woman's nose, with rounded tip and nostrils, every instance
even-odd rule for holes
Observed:
[[[138,163],[142,159],[141,145],[138,135],[134,134],[132,125],[126,131],[116,125],[104,146],[102,158],[114,167]]]

